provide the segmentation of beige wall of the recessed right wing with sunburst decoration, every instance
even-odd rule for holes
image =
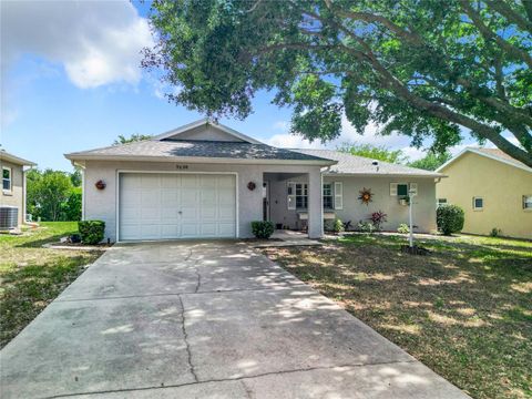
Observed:
[[[408,224],[408,206],[399,204],[399,197],[390,195],[390,183],[418,183],[418,195],[413,198],[413,225],[416,232],[430,233],[436,229],[436,182],[433,178],[415,177],[358,177],[324,176],[324,183],[341,182],[344,184],[344,208],[336,209],[342,221],[351,221],[356,227],[358,222],[368,221],[372,212],[382,211],[388,214],[385,231],[396,231],[401,223]],[[371,188],[372,202],[365,205],[358,200],[360,190]]]

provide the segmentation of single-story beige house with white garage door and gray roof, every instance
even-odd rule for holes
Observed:
[[[252,221],[306,228],[324,218],[356,225],[371,212],[385,228],[408,222],[401,198],[417,190],[415,224],[436,228],[441,174],[335,151],[274,147],[201,120],[151,140],[65,154],[83,170],[83,218],[111,241],[250,237]],[[371,191],[371,202],[358,200]]]

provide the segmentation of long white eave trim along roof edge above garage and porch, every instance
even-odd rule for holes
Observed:
[[[252,165],[334,165],[336,161],[327,160],[249,160],[212,156],[146,156],[146,155],[83,155],[82,153],[64,154],[70,161],[147,161],[147,162],[181,162],[203,164],[252,164]],[[431,176],[433,177],[433,176]]]

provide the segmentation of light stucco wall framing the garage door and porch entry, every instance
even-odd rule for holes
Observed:
[[[184,165],[184,164],[180,164]],[[311,212],[320,215],[321,187],[319,166],[295,166],[295,165],[249,165],[249,164],[194,164],[187,163],[186,173],[194,172],[236,172],[238,186],[238,234],[239,237],[250,237],[250,222],[263,219],[263,174],[270,173],[308,173],[310,181]],[[117,171],[161,171],[180,172],[175,162],[108,162],[88,161],[84,171],[83,182],[83,208],[85,219],[102,219],[105,222],[105,238],[116,241],[116,176]],[[96,190],[94,184],[103,180],[106,187],[103,191]],[[248,182],[254,182],[256,188],[249,191]],[[321,218],[316,217],[309,223],[309,235],[319,237],[321,235]]]

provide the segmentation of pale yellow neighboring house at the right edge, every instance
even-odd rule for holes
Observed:
[[[532,168],[497,149],[468,147],[440,166],[439,204],[463,208],[463,233],[532,239]]]

